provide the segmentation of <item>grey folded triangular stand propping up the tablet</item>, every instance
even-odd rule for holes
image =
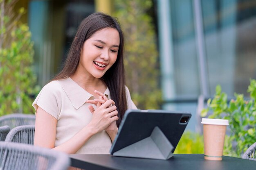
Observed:
[[[169,159],[173,156],[173,145],[164,133],[156,126],[151,135],[134,144],[126,146],[113,153],[120,157],[138,157],[150,159]]]

